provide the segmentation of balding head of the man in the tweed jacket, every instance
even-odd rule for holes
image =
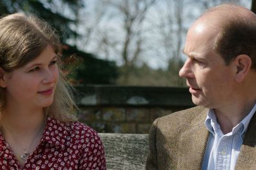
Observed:
[[[189,28],[179,75],[186,78],[194,104],[223,111],[235,102],[255,103],[255,18],[246,8],[222,5]]]

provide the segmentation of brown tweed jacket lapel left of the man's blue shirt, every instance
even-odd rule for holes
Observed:
[[[201,169],[209,131],[204,125],[208,109],[198,114],[191,127],[180,136],[178,169]]]

